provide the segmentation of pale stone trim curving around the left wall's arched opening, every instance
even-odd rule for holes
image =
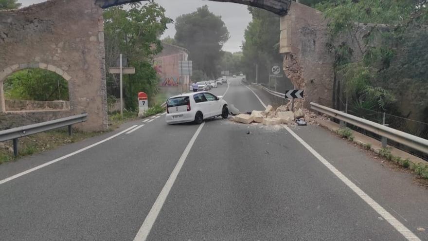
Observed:
[[[61,75],[61,77],[63,77],[68,82],[72,81],[70,74],[67,74],[67,72],[65,70],[58,68],[52,64],[36,62],[36,63],[21,63],[21,64],[15,64],[15,65],[9,66],[9,67],[0,71],[0,112],[6,111],[5,100],[4,100],[4,90],[3,90],[4,80],[10,74],[13,74],[19,70],[24,70],[24,69],[49,70],[49,71],[52,71],[56,74]],[[71,103],[72,103],[72,101],[71,101]]]

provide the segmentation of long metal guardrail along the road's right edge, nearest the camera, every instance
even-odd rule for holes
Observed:
[[[311,109],[428,154],[428,140],[311,102]]]

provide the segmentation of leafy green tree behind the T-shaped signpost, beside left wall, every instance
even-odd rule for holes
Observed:
[[[172,19],[165,17],[165,9],[153,1],[133,4],[130,9],[111,7],[104,10],[103,16],[107,67],[116,66],[119,54],[124,54],[128,65],[135,68],[136,74],[124,77],[125,107],[135,110],[138,92],[147,93],[149,98],[157,93],[153,56],[162,50],[159,36]],[[107,76],[107,92],[119,95],[117,76]]]

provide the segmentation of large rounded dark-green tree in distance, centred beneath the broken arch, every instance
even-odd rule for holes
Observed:
[[[190,14],[183,14],[175,22],[175,40],[189,50],[189,59],[195,69],[202,70],[209,77],[216,74],[216,66],[222,56],[223,44],[229,39],[229,32],[220,16],[215,16],[204,5]]]

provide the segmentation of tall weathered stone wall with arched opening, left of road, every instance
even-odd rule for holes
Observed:
[[[103,17],[94,0],[50,0],[0,11],[0,49],[3,120],[5,78],[21,69],[42,68],[69,82],[69,112],[89,114],[82,130],[107,128]]]

